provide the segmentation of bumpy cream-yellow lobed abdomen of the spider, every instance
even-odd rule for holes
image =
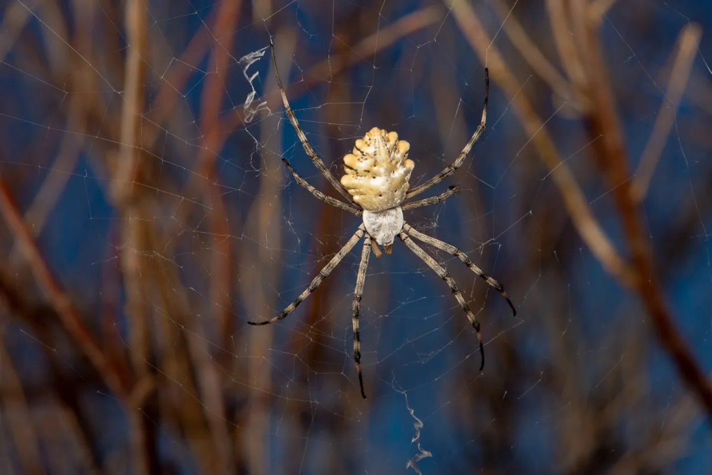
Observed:
[[[396,132],[373,127],[356,140],[344,157],[346,174],[341,184],[363,209],[372,212],[399,206],[408,191],[414,162],[408,159],[410,144]]]

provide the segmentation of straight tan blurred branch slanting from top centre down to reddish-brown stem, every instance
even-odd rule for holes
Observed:
[[[481,61],[486,62],[490,74],[511,100],[524,129],[538,150],[542,161],[549,168],[553,181],[562,194],[564,204],[581,238],[607,272],[617,276],[624,283],[632,285],[633,276],[630,269],[620,258],[608,236],[593,217],[583,192],[566,162],[562,160],[545,125],[526,95],[520,91],[520,83],[509,71],[470,4],[466,0],[456,0],[452,5],[452,11],[471,47],[480,56]]]

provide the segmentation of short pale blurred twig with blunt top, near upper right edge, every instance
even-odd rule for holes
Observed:
[[[670,135],[677,115],[677,108],[687,87],[701,37],[702,30],[697,24],[688,24],[680,32],[677,41],[677,55],[670,73],[668,88],[631,184],[630,191],[635,202],[641,202],[648,192],[650,180]]]

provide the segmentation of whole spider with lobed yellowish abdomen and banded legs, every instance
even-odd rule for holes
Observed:
[[[314,278],[306,290],[303,291],[295,301],[290,303],[279,315],[271,318],[270,320],[248,323],[250,325],[268,325],[269,323],[275,323],[278,320],[282,320],[287,315],[292,313],[292,311],[297,308],[297,306],[302,303],[305,298],[310,295],[310,293],[315,291],[315,289],[320,286],[324,279],[327,278],[331,271],[333,271],[334,268],[341,262],[344,256],[346,256],[346,254],[353,249],[357,242],[363,238],[364,244],[361,251],[361,261],[358,267],[356,288],[352,304],[352,322],[354,335],[354,361],[358,370],[358,381],[361,388],[361,395],[364,399],[366,399],[366,393],[363,387],[363,374],[361,370],[361,338],[359,333],[359,311],[361,297],[363,295],[363,287],[366,281],[366,269],[368,267],[368,259],[371,251],[373,251],[373,254],[379,258],[382,256],[379,246],[383,246],[386,254],[391,254],[393,242],[395,237],[398,236],[398,238],[403,241],[403,243],[411,251],[413,251],[414,254],[422,259],[450,287],[450,290],[460,304],[462,311],[464,311],[465,315],[467,315],[468,320],[477,332],[481,357],[480,370],[482,370],[485,365],[485,350],[482,344],[480,323],[467,306],[467,303],[458,290],[454,279],[442,266],[439,265],[439,263],[429,256],[426,251],[415,244],[415,242],[411,239],[411,236],[424,242],[425,244],[435,247],[436,249],[440,249],[441,251],[445,251],[453,256],[457,256],[465,263],[466,266],[468,266],[468,268],[471,269],[471,271],[483,278],[490,286],[496,288],[496,290],[502,294],[512,309],[513,315],[517,314],[517,310],[514,308],[512,301],[507,296],[507,293],[504,291],[501,283],[498,283],[498,281],[484,273],[463,251],[460,251],[455,246],[451,246],[450,244],[440,241],[439,239],[435,239],[432,236],[422,234],[407,224],[403,220],[403,212],[409,209],[424,207],[429,204],[444,202],[444,200],[460,192],[459,187],[452,186],[439,196],[420,199],[418,201],[404,204],[405,200],[410,199],[417,194],[421,194],[453,174],[460,167],[460,165],[462,165],[462,162],[465,160],[465,157],[470,152],[472,146],[485,131],[485,122],[487,120],[487,100],[489,96],[489,74],[487,68],[485,68],[485,100],[482,108],[482,119],[480,125],[478,125],[469,142],[467,142],[464,149],[460,152],[460,155],[457,156],[451,165],[446,167],[439,174],[436,174],[424,184],[413,189],[409,189],[408,180],[414,167],[414,162],[408,159],[410,144],[405,140],[398,140],[398,134],[396,132],[386,132],[378,127],[372,128],[362,139],[356,140],[353,152],[346,155],[343,159],[346,174],[341,177],[341,182],[338,182],[321,160],[321,157],[314,151],[313,147],[309,143],[309,140],[307,140],[306,135],[304,135],[304,131],[302,130],[302,127],[300,127],[299,122],[294,115],[294,111],[290,108],[287,95],[282,86],[282,80],[279,77],[279,71],[277,70],[277,61],[273,46],[271,47],[271,52],[272,66],[277,76],[277,85],[282,95],[284,109],[289,121],[299,137],[300,142],[302,142],[304,151],[309,156],[315,167],[317,167],[324,177],[326,177],[328,182],[332,184],[337,192],[342,194],[347,199],[348,203],[326,196],[318,189],[310,185],[305,179],[300,177],[287,160],[282,159],[284,165],[286,165],[289,169],[296,182],[305,189],[308,189],[316,198],[326,204],[330,204],[355,214],[356,216],[362,216],[363,222],[360,226],[358,226],[358,229],[353,234],[351,239],[349,239],[341,250],[333,256],[329,263],[327,263],[326,266],[319,271],[318,276]]]

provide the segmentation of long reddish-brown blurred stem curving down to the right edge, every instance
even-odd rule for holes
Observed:
[[[648,309],[651,323],[663,348],[672,357],[680,376],[696,393],[698,400],[706,408],[708,416],[712,418],[712,387],[675,328],[671,313],[662,298],[663,290],[658,273],[651,263],[651,251],[639,218],[637,204],[631,194],[630,172],[627,169],[630,161],[622,136],[622,125],[616,113],[606,64],[600,49],[598,24],[590,21],[586,16],[583,4],[577,6],[578,9],[572,15],[574,21],[572,31],[577,32],[576,45],[579,48],[580,58],[587,65],[585,68],[588,73],[587,92],[592,104],[587,125],[591,137],[602,136],[602,140],[597,140],[593,147],[597,152],[600,167],[607,176],[623,221],[632,266],[636,273],[633,281],[634,288],[637,289]]]

